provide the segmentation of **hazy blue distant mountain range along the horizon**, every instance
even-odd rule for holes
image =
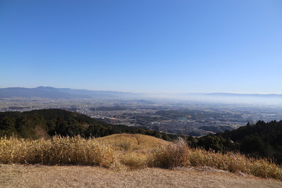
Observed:
[[[231,94],[231,93],[180,93],[136,94],[130,92],[92,91],[55,87],[8,87],[0,89],[0,98],[47,98],[47,99],[187,99],[204,101],[271,101],[282,103],[282,94]]]

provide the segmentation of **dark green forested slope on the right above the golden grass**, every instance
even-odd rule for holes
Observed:
[[[269,158],[282,164],[282,121],[258,121],[251,125],[209,134],[199,139],[188,137],[192,146],[202,146],[214,151],[238,151],[246,156]]]

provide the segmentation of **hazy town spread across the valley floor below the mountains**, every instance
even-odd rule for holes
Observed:
[[[246,104],[172,99],[0,99],[0,111],[60,108],[111,124],[142,126],[171,134],[202,136],[233,130],[258,120],[282,119],[278,104]]]

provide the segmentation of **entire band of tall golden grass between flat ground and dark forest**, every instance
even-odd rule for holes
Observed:
[[[212,167],[231,173],[282,180],[282,168],[239,153],[191,149],[183,139],[166,142],[140,134],[114,134],[99,139],[0,139],[0,163],[99,165],[115,170]]]

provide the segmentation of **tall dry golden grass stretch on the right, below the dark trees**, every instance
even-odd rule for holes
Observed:
[[[247,158],[240,153],[215,153],[204,149],[191,149],[183,139],[160,146],[148,161],[151,167],[208,166],[231,173],[246,173],[257,177],[282,180],[282,168],[265,159]]]

